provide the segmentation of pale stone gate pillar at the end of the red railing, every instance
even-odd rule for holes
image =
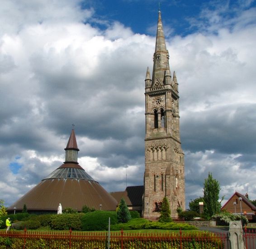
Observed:
[[[241,221],[229,222],[229,241],[231,249],[244,249],[243,228]]]

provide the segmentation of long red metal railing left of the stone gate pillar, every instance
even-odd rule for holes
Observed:
[[[106,249],[108,236],[104,232],[38,232],[38,231],[0,231],[1,238],[9,238],[11,248],[19,249]],[[15,239],[12,241],[12,239]],[[18,239],[18,240],[17,240]],[[227,235],[224,233],[178,233],[165,234],[140,234],[124,233],[123,231],[111,232],[111,249],[224,249]],[[3,241],[3,240],[0,240]],[[16,243],[16,244],[15,244]],[[0,242],[0,247],[4,245]],[[16,247],[15,247],[16,246]],[[1,247],[2,248],[2,247]],[[6,247],[8,248],[8,247]]]

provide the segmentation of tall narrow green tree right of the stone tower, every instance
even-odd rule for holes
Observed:
[[[219,182],[213,179],[212,173],[209,172],[208,178],[204,179],[204,216],[207,219],[220,212],[224,196],[219,202],[219,191]]]

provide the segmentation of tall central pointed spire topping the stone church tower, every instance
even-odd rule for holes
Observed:
[[[154,53],[154,66],[152,73],[153,84],[156,78],[164,83],[164,74],[169,61],[169,53],[166,50],[166,41],[161,20],[161,11],[158,12],[157,32],[156,32],[156,48]],[[169,68],[170,70],[170,68]]]

